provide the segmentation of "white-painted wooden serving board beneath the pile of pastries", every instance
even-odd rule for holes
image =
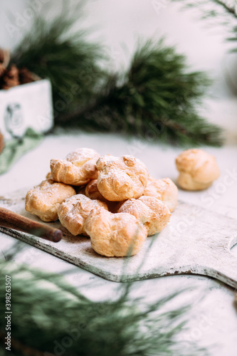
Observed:
[[[27,189],[0,197],[0,206],[31,219],[24,210]],[[237,288],[237,258],[230,249],[237,242],[237,220],[179,201],[168,226],[148,237],[136,256],[107,258],[95,253],[90,239],[63,231],[57,244],[11,229],[0,231],[95,273],[109,281],[127,282],[181,273],[211,276]]]

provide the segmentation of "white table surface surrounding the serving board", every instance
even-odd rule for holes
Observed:
[[[237,172],[235,145],[237,103],[236,100],[210,101],[209,107],[212,113],[210,118],[222,124],[224,122],[226,127],[226,145],[222,148],[205,148],[216,156],[221,168],[221,177],[205,192],[180,190],[179,199],[237,219],[237,177],[228,184],[228,187],[224,183],[226,182],[224,177],[229,174],[228,172]],[[136,138],[128,140],[119,135],[61,133],[47,136],[36,149],[21,157],[9,172],[1,175],[0,195],[38,184],[48,173],[51,158],[64,157],[76,147],[92,147],[101,155],[133,154],[142,159],[154,177],[170,177],[174,181],[177,179],[174,159],[181,152],[180,148],[162,147],[156,142],[141,142]],[[208,204],[205,202],[207,197]],[[6,250],[14,241],[16,241],[14,238],[1,234],[1,251]],[[232,251],[237,256],[237,246]],[[120,286],[120,283],[105,281],[32,246],[26,245],[26,249],[19,253],[16,261],[60,273],[73,269],[73,273],[65,278],[95,300],[115,298],[117,288]],[[182,333],[181,339],[195,340],[200,346],[206,346],[210,355],[236,356],[237,314],[233,307],[233,289],[204,276],[168,276],[135,282],[132,295],[144,295],[147,300],[154,300],[182,288],[188,288],[188,292],[181,297],[182,300],[179,298],[171,305],[171,308],[181,302],[192,305],[186,314],[189,329]]]

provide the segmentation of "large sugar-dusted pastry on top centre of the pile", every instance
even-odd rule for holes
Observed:
[[[98,189],[105,199],[123,201],[139,198],[147,185],[148,171],[135,157],[102,156],[98,159]]]

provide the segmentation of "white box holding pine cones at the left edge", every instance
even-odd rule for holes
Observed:
[[[47,132],[53,127],[51,82],[48,79],[0,90],[0,130],[4,140],[22,137],[27,128]]]

